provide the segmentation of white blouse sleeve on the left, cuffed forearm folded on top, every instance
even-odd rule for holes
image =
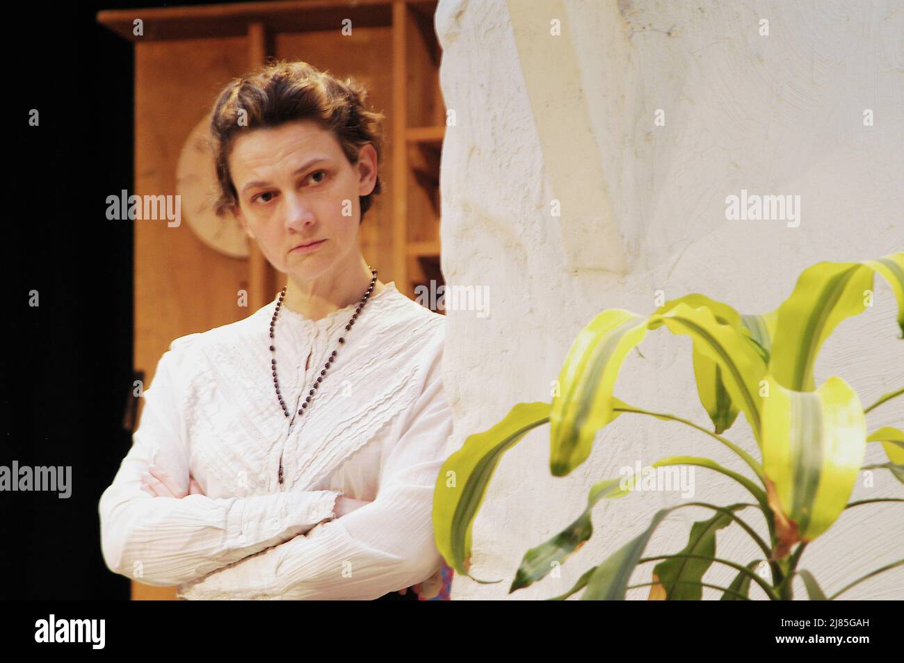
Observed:
[[[334,517],[335,499],[342,494],[310,490],[176,499],[141,490],[141,475],[152,462],[188,489],[186,428],[178,405],[184,400],[175,377],[183,358],[177,341],[157,364],[132,447],[99,500],[101,550],[108,568],[162,586],[184,584],[303,534]]]

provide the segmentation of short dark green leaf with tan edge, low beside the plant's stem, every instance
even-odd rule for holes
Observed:
[[[732,504],[725,509],[731,512],[743,509],[746,504]],[[716,532],[733,522],[726,513],[716,513],[712,518],[695,522],[687,545],[678,555],[716,556]],[[703,589],[700,583],[710,569],[712,561],[694,557],[673,557],[654,566],[654,580],[664,591],[665,601],[701,601]],[[652,592],[651,592],[652,595]]]

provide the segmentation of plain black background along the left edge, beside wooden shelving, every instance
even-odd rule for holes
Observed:
[[[0,465],[71,465],[71,496],[0,492],[0,598],[127,599],[100,554],[98,501],[131,444],[133,45],[102,9],[208,3],[10,5],[3,112],[6,334]],[[224,3],[218,3],[224,4]],[[5,11],[7,11],[5,9]],[[17,14],[16,14],[17,13]],[[29,126],[32,108],[40,126]],[[7,144],[8,145],[8,144]],[[40,306],[29,306],[30,292]]]

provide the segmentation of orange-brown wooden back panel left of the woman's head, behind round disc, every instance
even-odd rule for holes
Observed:
[[[248,66],[245,38],[137,43],[135,187],[137,195],[175,195],[184,141],[215,94]],[[153,379],[170,341],[252,313],[237,305],[248,287],[247,260],[221,256],[195,238],[185,220],[133,221],[135,365]],[[150,384],[150,382],[146,382]],[[174,589],[133,583],[133,599],[175,598]]]

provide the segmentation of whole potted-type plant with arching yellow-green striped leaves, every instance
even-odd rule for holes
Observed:
[[[702,294],[689,294],[664,303],[652,315],[620,309],[599,313],[579,332],[569,350],[551,403],[519,403],[508,416],[482,433],[469,435],[439,472],[434,493],[433,523],[437,546],[448,565],[479,583],[470,573],[471,529],[494,470],[514,444],[532,429],[551,425],[551,473],[565,476],[584,462],[598,431],[618,416],[654,416],[688,425],[729,447],[753,478],[707,458],[673,456],[654,467],[692,465],[720,472],[738,481],[754,501],[726,507],[687,502],[657,511],[640,536],[589,568],[562,600],[581,589],[582,599],[624,600],[626,590],[650,586],[651,599],[701,599],[703,574],[713,563],[738,571],[723,601],[749,599],[749,584],[758,584],[772,600],[789,600],[792,580],[800,575],[812,600],[833,599],[855,584],[895,566],[900,559],[826,596],[812,574],[797,566],[810,541],[830,528],[844,509],[898,498],[848,503],[862,469],[889,469],[904,482],[904,433],[883,427],[866,433],[866,414],[904,393],[904,386],[863,408],[857,393],[839,377],[815,386],[813,369],[824,341],[839,322],[862,313],[872,304],[874,273],[891,285],[898,303],[900,338],[904,339],[904,252],[878,260],[853,263],[822,262],[799,276],[794,291],[775,311],[741,315],[726,303]],[[679,416],[630,406],[613,396],[618,371],[626,355],[648,330],[665,327],[692,339],[694,377],[713,430]],[[901,356],[897,366],[904,364]],[[899,375],[899,373],[898,373]],[[722,435],[740,412],[757,441],[760,460]],[[866,444],[880,442],[889,462],[862,466]],[[608,479],[594,484],[587,508],[555,537],[529,550],[509,592],[533,584],[583,546],[593,532],[591,511],[602,499],[628,494],[628,481]],[[675,509],[711,509],[712,518],[694,523],[687,546],[675,555],[644,557],[655,528]],[[739,517],[742,509],[758,509],[768,528],[769,542]],[[736,523],[762,551],[763,558],[740,565],[716,556],[716,533]],[[772,583],[754,572],[766,560]],[[660,561],[661,560],[661,561]],[[659,561],[650,583],[628,585],[636,565]]]

